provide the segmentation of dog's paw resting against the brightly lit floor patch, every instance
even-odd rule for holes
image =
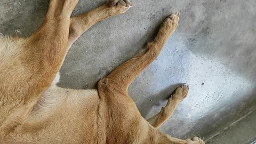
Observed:
[[[182,101],[188,94],[189,86],[179,86],[171,95],[172,100]]]

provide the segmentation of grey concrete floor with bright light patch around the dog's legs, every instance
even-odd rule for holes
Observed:
[[[32,34],[43,21],[48,2],[1,0],[0,32]],[[103,3],[81,0],[74,14]],[[188,97],[161,127],[174,137],[212,138],[256,108],[256,1],[132,3],[125,14],[98,23],[79,38],[60,70],[61,86],[94,88],[101,77],[138,53],[167,15],[179,11],[179,27],[129,88],[141,115],[156,114],[179,83],[190,85]]]

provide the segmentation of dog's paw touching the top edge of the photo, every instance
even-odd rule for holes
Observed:
[[[106,5],[115,8],[115,14],[125,13],[132,7],[132,3],[129,0],[108,0]]]

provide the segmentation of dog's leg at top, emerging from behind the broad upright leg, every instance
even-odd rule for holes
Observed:
[[[89,11],[85,14],[77,15],[70,20],[70,29],[68,37],[68,48],[81,36],[87,29],[95,23],[107,19],[111,16],[121,14],[129,10],[131,3],[129,0],[118,2],[109,0],[106,4]]]

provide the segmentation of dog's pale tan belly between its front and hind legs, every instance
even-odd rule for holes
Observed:
[[[68,90],[52,86],[7,141],[96,143],[98,105],[97,90]]]

